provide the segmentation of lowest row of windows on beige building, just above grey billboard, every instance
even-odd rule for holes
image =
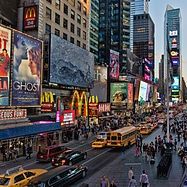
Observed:
[[[49,25],[47,23],[46,23],[46,26],[45,26],[45,33],[46,34],[51,33],[51,25]],[[60,36],[61,35],[60,30],[55,28],[54,34],[57,35],[57,36]],[[63,33],[63,39],[68,40],[68,34]],[[82,43],[82,46],[81,46],[81,41],[79,41],[79,40],[77,40],[77,42],[75,43],[75,38],[73,38],[72,36],[70,36],[69,41],[72,44],[76,44],[77,46],[82,47],[83,49],[86,49],[86,44],[85,43]]]

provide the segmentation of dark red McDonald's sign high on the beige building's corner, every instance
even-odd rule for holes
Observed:
[[[38,23],[38,7],[24,7],[23,13],[23,28],[24,30],[33,30],[37,28]]]

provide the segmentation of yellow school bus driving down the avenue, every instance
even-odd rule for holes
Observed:
[[[139,130],[134,126],[123,127],[107,133],[108,147],[130,146],[136,142]]]

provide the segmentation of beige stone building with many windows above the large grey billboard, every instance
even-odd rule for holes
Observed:
[[[53,33],[88,49],[89,12],[88,0],[21,0],[19,30],[40,39]]]

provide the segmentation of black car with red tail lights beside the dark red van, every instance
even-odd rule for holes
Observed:
[[[73,165],[87,158],[86,152],[66,151],[52,159],[52,166]]]

